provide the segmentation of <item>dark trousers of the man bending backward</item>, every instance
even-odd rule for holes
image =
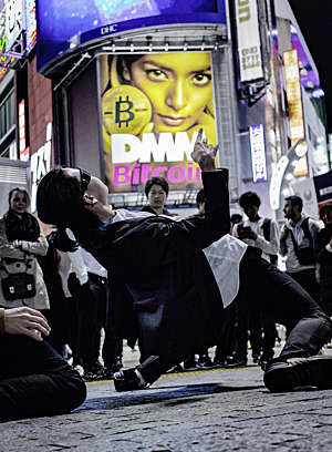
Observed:
[[[289,275],[262,259],[258,248],[248,247],[241,260],[240,290],[247,294],[241,297],[241,302],[266,312],[290,331],[280,356],[274,360],[317,355],[331,337],[330,318]],[[137,368],[143,378],[152,383],[167,369],[183,361],[186,356],[183,356],[180,348],[178,343],[177,357],[164,353],[146,359]]]

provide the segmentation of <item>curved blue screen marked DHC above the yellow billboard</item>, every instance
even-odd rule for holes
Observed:
[[[225,0],[38,0],[38,69],[73,45],[126,30],[226,23]]]

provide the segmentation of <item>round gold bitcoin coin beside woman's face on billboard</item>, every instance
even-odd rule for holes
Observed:
[[[141,90],[131,85],[106,91],[102,100],[102,111],[108,134],[139,135],[152,117],[149,100]]]

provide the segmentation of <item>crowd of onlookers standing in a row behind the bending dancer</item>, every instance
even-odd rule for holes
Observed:
[[[165,207],[165,178],[149,179],[145,194],[148,205],[136,215],[174,216]],[[230,234],[258,248],[271,264],[280,266],[284,261],[286,271],[332,316],[332,205],[321,207],[318,222],[302,212],[299,196],[289,196],[284,199],[286,223],[281,229],[274,219],[260,216],[260,198],[255,192],[243,193],[239,206],[242,212],[231,216]],[[112,275],[107,278],[106,270],[85,249],[77,246],[74,253],[59,250],[54,232],[44,228],[43,234],[28,209],[29,194],[12,189],[0,228],[0,276],[4,279],[18,271],[33,275],[34,294],[8,300],[2,290],[0,307],[23,302],[40,310],[51,325],[46,340],[86,381],[112,378],[123,366],[123,338],[110,301],[123,297],[125,302],[129,295],[112,284]],[[197,209],[198,215],[204,215],[203,189],[197,194]],[[250,304],[239,302],[240,297],[246,294],[240,291],[224,310],[215,356],[211,358],[207,349],[197,350],[169,371],[246,366],[248,341],[253,362],[264,366],[273,358],[276,341],[280,341],[273,318],[252,310]],[[128,345],[133,348],[135,342],[129,340]]]

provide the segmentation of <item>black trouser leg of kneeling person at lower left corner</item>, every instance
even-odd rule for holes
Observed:
[[[0,337],[0,421],[68,413],[86,398],[79,373],[46,342]]]

